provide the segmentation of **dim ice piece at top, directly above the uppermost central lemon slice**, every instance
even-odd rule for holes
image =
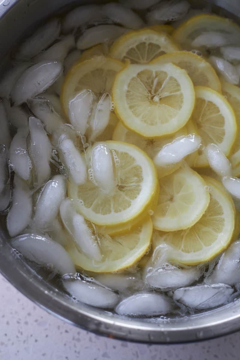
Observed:
[[[144,26],[144,22],[139,15],[121,4],[108,3],[103,5],[102,12],[114,23],[126,28],[137,30]]]

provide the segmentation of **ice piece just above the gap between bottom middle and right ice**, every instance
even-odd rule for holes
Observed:
[[[198,266],[177,267],[167,263],[161,267],[146,265],[145,281],[153,288],[168,291],[191,285],[199,279],[202,270]]]

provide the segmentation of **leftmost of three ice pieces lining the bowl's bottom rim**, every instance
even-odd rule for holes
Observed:
[[[63,287],[77,300],[101,309],[113,309],[119,301],[113,291],[81,279],[63,280]]]

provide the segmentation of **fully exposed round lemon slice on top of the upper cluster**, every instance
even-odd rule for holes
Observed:
[[[173,64],[128,64],[113,84],[115,113],[146,138],[173,134],[189,120],[195,103],[193,83]]]

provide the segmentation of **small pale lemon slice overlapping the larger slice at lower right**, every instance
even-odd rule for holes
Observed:
[[[162,231],[190,228],[208,207],[206,183],[190,168],[179,168],[159,180],[158,205],[152,217],[153,227]]]

